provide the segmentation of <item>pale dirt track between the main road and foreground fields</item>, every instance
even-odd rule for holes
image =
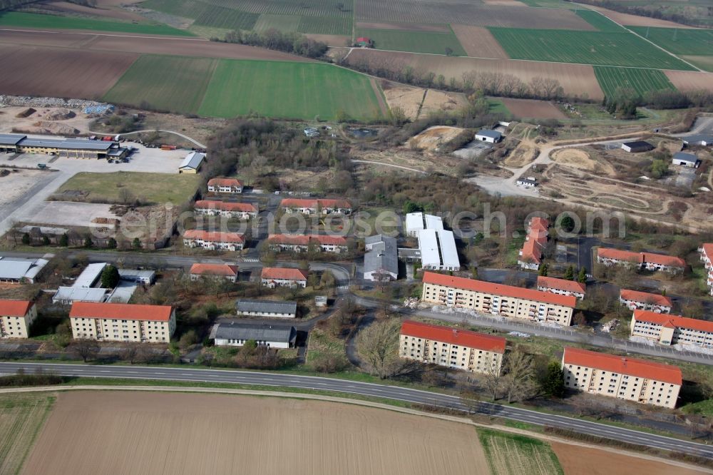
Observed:
[[[284,397],[289,399],[311,399],[314,401],[325,401],[325,402],[337,402],[342,404],[352,404],[355,406],[371,407],[374,409],[385,409],[387,411],[401,412],[402,414],[411,414],[414,416],[421,417],[431,417],[433,419],[441,419],[447,422],[458,422],[460,424],[467,424],[473,427],[482,427],[483,429],[496,429],[498,431],[508,432],[511,434],[519,434],[533,439],[540,439],[545,441],[554,441],[561,444],[568,444],[580,447],[588,447],[591,449],[599,449],[603,451],[610,452],[612,454],[624,454],[625,456],[636,457],[637,459],[645,459],[658,461],[664,464],[669,464],[673,466],[679,466],[686,469],[693,469],[698,471],[707,471],[713,474],[713,470],[706,469],[705,467],[685,464],[684,462],[677,460],[664,459],[662,457],[640,454],[635,451],[625,451],[622,449],[614,449],[609,446],[601,446],[597,444],[586,444],[582,441],[575,441],[572,439],[564,439],[557,436],[551,436],[548,434],[540,434],[539,432],[527,431],[525,429],[517,429],[515,427],[503,426],[501,424],[483,424],[482,422],[475,422],[466,417],[451,416],[448,414],[435,414],[431,412],[419,411],[418,409],[411,409],[409,407],[399,407],[393,406],[391,404],[384,404],[382,402],[371,402],[364,401],[361,399],[352,399],[350,397],[334,397],[334,396],[324,396],[322,394],[309,394],[300,392],[281,392],[281,391],[260,391],[255,389],[230,389],[230,388],[211,388],[211,387],[165,387],[165,386],[111,386],[111,385],[78,385],[78,386],[37,386],[37,387],[10,387],[1,388],[0,394],[12,394],[12,393],[24,393],[24,392],[63,392],[63,391],[136,391],[136,392],[192,392],[192,393],[202,393],[202,394],[234,394],[242,396],[269,396],[269,397]]]

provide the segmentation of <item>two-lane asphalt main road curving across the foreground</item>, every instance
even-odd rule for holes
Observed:
[[[540,426],[558,427],[580,434],[606,437],[630,444],[640,444],[671,451],[684,452],[713,459],[713,446],[697,442],[673,439],[667,436],[649,434],[647,432],[621,427],[608,426],[573,417],[545,414],[542,412],[503,406],[488,402],[468,402],[458,396],[421,391],[408,387],[389,386],[388,384],[372,384],[332,379],[324,377],[298,376],[294,374],[235,371],[226,369],[195,369],[175,367],[143,367],[143,366],[92,366],[86,364],[52,364],[0,362],[0,373],[11,374],[19,369],[32,373],[38,369],[53,372],[63,376],[102,377],[123,379],[162,379],[186,382],[222,382],[234,384],[257,384],[272,387],[294,387],[319,391],[334,391],[346,394],[359,394],[370,397],[395,399],[397,401],[426,404],[458,411],[486,414],[493,417],[503,417]]]

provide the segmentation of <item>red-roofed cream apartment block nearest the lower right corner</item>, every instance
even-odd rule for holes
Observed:
[[[565,387],[627,401],[676,407],[681,369],[670,364],[565,347]]]

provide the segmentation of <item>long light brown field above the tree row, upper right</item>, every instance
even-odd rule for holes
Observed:
[[[349,55],[350,63],[367,61],[376,66],[402,71],[411,66],[419,73],[433,71],[448,78],[461,81],[467,71],[498,72],[518,76],[522,81],[530,82],[534,76],[554,78],[560,81],[565,93],[600,100],[604,97],[594,75],[592,66],[584,64],[541,63],[535,61],[515,61],[511,59],[456,58],[415,53],[397,53],[375,51],[364,48],[354,49]]]

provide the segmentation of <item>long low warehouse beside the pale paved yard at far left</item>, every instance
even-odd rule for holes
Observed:
[[[128,148],[112,141],[88,138],[29,138],[16,133],[0,134],[0,152],[39,153],[67,158],[124,158]]]

